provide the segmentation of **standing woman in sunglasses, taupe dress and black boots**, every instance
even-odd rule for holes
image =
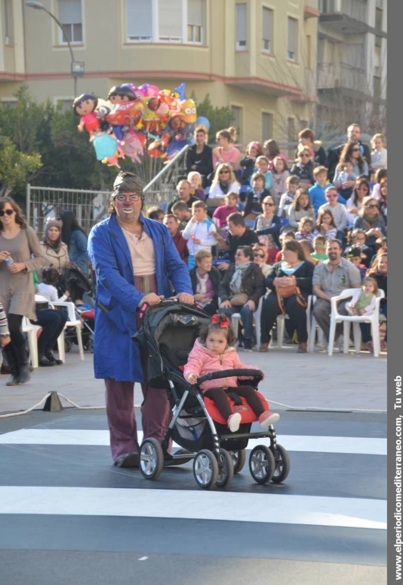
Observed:
[[[32,272],[45,259],[35,231],[11,197],[0,199],[0,300],[7,315],[11,343],[4,352],[11,371],[6,386],[29,381],[29,364],[22,335],[22,318],[36,321]]]

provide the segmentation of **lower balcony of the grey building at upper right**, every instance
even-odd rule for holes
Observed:
[[[347,63],[318,63],[318,91],[345,90],[368,94],[366,72]]]

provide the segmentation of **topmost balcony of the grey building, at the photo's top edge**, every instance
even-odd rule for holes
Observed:
[[[367,0],[320,0],[319,23],[345,35],[374,32],[368,25]]]

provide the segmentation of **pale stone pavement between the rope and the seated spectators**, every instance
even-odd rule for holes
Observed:
[[[272,410],[287,407],[309,409],[351,409],[384,411],[387,405],[386,354],[374,358],[363,352],[356,355],[334,353],[295,353],[297,346],[268,353],[246,353],[240,359],[259,366],[266,374],[259,390],[269,400]],[[24,386],[5,386],[8,375],[0,376],[0,413],[18,412],[32,407],[50,390],[56,390],[80,406],[104,406],[104,383],[95,380],[92,355],[85,353],[82,362],[78,348],[66,354],[63,366],[37,368]],[[139,385],[135,402],[141,402]],[[277,402],[277,404],[274,404]],[[70,406],[62,400],[63,406]],[[42,408],[42,407],[41,407]],[[0,419],[1,428],[1,419]]]

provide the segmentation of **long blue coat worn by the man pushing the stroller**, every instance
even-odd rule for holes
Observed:
[[[168,278],[175,292],[193,294],[187,266],[167,228],[142,214],[140,221],[154,243],[157,294],[171,297]],[[135,288],[129,246],[114,214],[92,228],[88,254],[97,276],[95,378],[142,382],[140,352],[132,335],[137,331],[137,305],[144,295]],[[98,303],[105,310],[99,309]]]

